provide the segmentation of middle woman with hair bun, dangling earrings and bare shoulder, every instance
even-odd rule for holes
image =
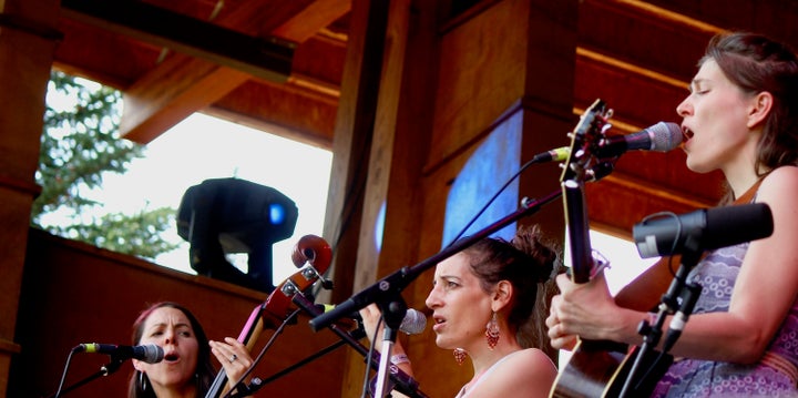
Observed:
[[[436,344],[458,364],[471,359],[473,377],[457,397],[548,397],[556,367],[542,347],[552,274],[559,255],[536,227],[521,228],[511,242],[483,238],[440,262],[427,297]],[[361,310],[369,338],[380,316]],[[400,344],[391,361],[412,375]]]

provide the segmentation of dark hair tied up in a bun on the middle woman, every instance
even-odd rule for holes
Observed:
[[[562,271],[559,251],[538,225],[520,227],[512,241],[487,237],[463,249],[484,292],[500,280],[513,286],[508,323],[524,347],[545,348],[544,320],[555,294],[553,276]]]

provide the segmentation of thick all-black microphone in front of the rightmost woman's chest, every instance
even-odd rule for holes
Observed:
[[[632,228],[642,258],[682,254],[693,239],[703,251],[768,237],[773,214],[765,203],[702,208],[683,215],[645,220]]]

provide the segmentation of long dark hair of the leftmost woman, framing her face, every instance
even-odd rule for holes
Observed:
[[[194,336],[196,336],[200,349],[197,353],[197,368],[194,378],[197,387],[197,397],[204,397],[205,392],[208,388],[211,388],[211,384],[213,384],[214,378],[216,378],[216,370],[211,363],[211,347],[208,346],[208,338],[205,335],[205,330],[202,325],[200,325],[200,322],[194,314],[192,314],[192,312],[190,312],[186,307],[173,302],[160,302],[149,306],[133,323],[133,345],[139,345],[141,343],[142,336],[144,335],[144,323],[146,319],[154,310],[163,307],[171,307],[182,312],[186,318],[188,318],[192,329],[194,329]],[[142,385],[142,379],[147,385],[146,388]],[[141,376],[139,370],[133,370],[127,386],[127,397],[156,398],[146,375]]]

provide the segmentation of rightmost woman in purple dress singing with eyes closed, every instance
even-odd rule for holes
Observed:
[[[734,32],[713,38],[698,67],[676,108],[687,167],[722,171],[722,205],[765,203],[774,229],[710,251],[690,271],[685,282],[702,292],[654,396],[796,397],[798,59],[764,35]],[[603,275],[580,285],[557,278],[562,294],[546,319],[552,346],[573,347],[576,336],[642,344],[637,326],[672,278],[668,262],[659,262],[614,299]]]

